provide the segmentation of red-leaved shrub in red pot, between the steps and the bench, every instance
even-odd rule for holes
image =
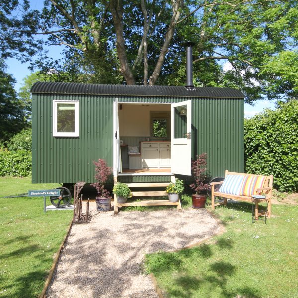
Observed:
[[[210,185],[206,183],[206,165],[207,165],[207,154],[202,153],[197,156],[196,160],[191,162],[191,169],[194,178],[194,183],[190,184],[190,188],[196,193],[192,195],[192,207],[193,208],[204,208],[206,203],[205,192],[210,189]]]

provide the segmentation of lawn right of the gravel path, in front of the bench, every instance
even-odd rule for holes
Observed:
[[[165,297],[297,298],[298,206],[273,205],[273,217],[251,223],[251,205],[214,214],[226,232],[175,253],[146,256]]]

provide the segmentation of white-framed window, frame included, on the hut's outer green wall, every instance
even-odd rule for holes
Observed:
[[[53,100],[53,137],[78,137],[78,100]]]

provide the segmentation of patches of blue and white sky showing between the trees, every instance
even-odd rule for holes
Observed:
[[[40,9],[43,6],[43,1],[40,0],[30,0],[30,7],[33,9]],[[62,51],[62,47],[59,46],[49,46],[47,47],[49,51],[49,57],[53,59],[61,58],[60,52]],[[23,85],[23,79],[28,76],[31,72],[28,69],[30,63],[20,63],[17,59],[10,58],[6,60],[7,64],[7,72],[12,74],[16,80],[15,90],[18,91],[19,88]],[[229,68],[227,65],[226,69]],[[275,103],[269,100],[258,100],[255,102],[254,106],[249,104],[244,104],[244,117],[250,118],[257,113],[260,113],[265,108],[274,109]]]

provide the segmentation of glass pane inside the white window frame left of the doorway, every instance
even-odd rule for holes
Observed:
[[[74,103],[57,104],[57,132],[58,133],[75,132],[75,104]]]

